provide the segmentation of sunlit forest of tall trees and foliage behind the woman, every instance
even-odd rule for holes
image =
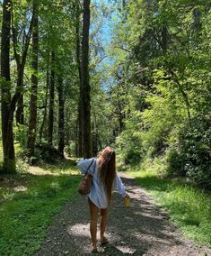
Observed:
[[[210,193],[210,1],[2,0],[0,23],[0,181],[110,145]]]

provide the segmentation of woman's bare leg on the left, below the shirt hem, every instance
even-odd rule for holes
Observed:
[[[97,223],[98,223],[98,213],[99,208],[95,206],[90,198],[88,198],[89,206],[90,206],[90,233],[92,237],[92,249],[97,249]]]

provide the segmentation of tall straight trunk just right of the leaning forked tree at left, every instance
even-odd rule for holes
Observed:
[[[39,51],[39,28],[38,28],[38,5],[33,2],[33,31],[32,31],[32,62],[31,68],[31,99],[30,99],[30,121],[28,133],[29,154],[34,154],[37,130],[37,99],[38,99],[38,51]]]

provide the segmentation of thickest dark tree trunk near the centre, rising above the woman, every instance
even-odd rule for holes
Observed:
[[[82,41],[82,99],[83,99],[83,129],[84,129],[84,158],[92,156],[91,138],[91,105],[89,83],[89,28],[90,28],[90,0],[84,0],[84,23]]]

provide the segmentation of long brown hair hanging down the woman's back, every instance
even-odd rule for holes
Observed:
[[[99,157],[100,181],[106,189],[110,203],[114,178],[116,177],[116,155],[113,148],[106,147]]]

